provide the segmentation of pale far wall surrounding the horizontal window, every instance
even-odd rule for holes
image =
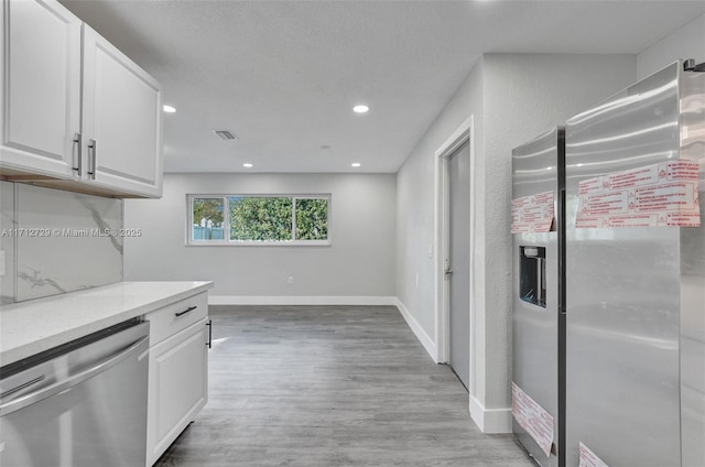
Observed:
[[[332,194],[332,245],[186,247],[186,194],[238,193]],[[213,303],[392,303],[395,203],[393,174],[166,174],[161,199],[126,200],[143,235],[126,239],[124,276],[212,280]]]

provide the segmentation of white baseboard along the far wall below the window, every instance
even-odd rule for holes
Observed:
[[[395,305],[394,296],[210,295],[209,305]]]

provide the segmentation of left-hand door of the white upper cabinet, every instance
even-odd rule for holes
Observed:
[[[54,0],[4,0],[2,7],[0,165],[77,175],[80,20]]]

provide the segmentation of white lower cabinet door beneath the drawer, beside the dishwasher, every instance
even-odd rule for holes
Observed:
[[[151,466],[208,400],[207,319],[150,348],[147,465]]]

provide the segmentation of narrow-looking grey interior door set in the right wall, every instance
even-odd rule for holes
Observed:
[[[470,379],[470,145],[448,158],[448,365],[469,388]]]

